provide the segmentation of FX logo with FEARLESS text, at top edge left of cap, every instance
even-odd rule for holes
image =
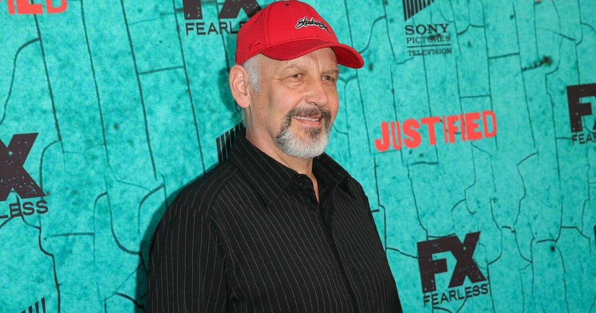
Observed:
[[[182,0],[182,7],[184,10],[184,19],[186,33],[188,35],[206,36],[206,35],[220,35],[220,34],[237,34],[240,27],[246,23],[246,20],[240,21],[238,25],[233,23],[233,20],[238,18],[240,11],[244,11],[247,17],[252,17],[259,10],[260,5],[256,0],[225,0],[219,10],[218,19],[215,21],[203,20],[203,2],[209,2],[211,5],[216,5],[216,1],[206,0]],[[216,5],[219,7],[218,5]],[[188,20],[201,20],[190,22]]]

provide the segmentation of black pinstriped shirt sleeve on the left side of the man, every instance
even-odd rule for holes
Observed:
[[[148,268],[148,312],[226,311],[221,241],[197,210],[166,210],[151,238]]]

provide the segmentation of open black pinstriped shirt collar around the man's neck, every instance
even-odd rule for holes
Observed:
[[[287,188],[288,184],[299,175],[294,169],[277,162],[249,140],[240,135],[234,141],[229,160],[243,173],[250,185],[256,190],[265,205],[269,205]],[[313,158],[312,171],[319,185],[337,184],[356,197],[353,188],[347,183],[349,173],[326,153]]]

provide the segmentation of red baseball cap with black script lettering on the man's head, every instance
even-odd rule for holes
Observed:
[[[337,64],[364,66],[354,48],[340,44],[331,26],[315,9],[297,0],[277,1],[251,17],[238,30],[236,63],[259,53],[274,60],[291,60],[316,49],[331,47]]]

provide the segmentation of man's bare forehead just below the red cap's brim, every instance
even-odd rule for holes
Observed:
[[[285,70],[337,70],[337,57],[333,49],[321,48],[292,60],[274,60],[265,58],[263,69],[280,72]]]

